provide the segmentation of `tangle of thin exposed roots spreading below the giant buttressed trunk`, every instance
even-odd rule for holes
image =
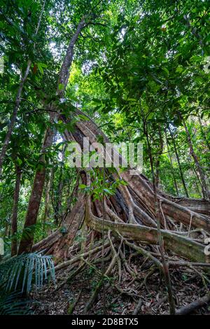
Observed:
[[[149,258],[147,256],[148,254],[142,253],[142,250],[144,250],[144,248],[137,246],[136,244],[134,244],[134,242],[127,241],[127,239],[123,239],[123,241],[122,241],[121,237],[118,237],[118,240],[111,239],[112,244],[113,244],[113,246],[111,246],[110,239],[111,239],[111,235],[109,232],[109,239],[108,239],[108,241],[106,240],[106,244],[104,245],[105,250],[106,250],[104,263],[106,264],[106,268],[107,268],[104,276],[107,279],[108,278],[111,279],[111,277],[113,279],[111,281],[110,281],[110,279],[105,281],[106,288],[107,288],[107,286],[109,286],[109,285],[112,286],[112,284],[113,284],[113,288],[116,288],[116,290],[118,290],[118,293],[120,295],[124,295],[125,300],[126,300],[126,297],[130,298],[131,301],[134,300],[135,307],[132,311],[132,314],[139,314],[139,312],[141,311],[141,307],[143,307],[142,310],[143,310],[143,313],[145,314],[145,310],[144,310],[145,299],[144,299],[144,297],[142,299],[141,291],[146,290],[148,295],[151,294],[151,286],[146,281],[148,280],[148,278],[151,278],[151,281],[150,281],[150,283],[151,283],[152,281],[154,281],[152,279],[153,275],[158,276],[159,263],[152,261],[151,258]],[[113,251],[112,251],[113,248],[115,250],[114,255],[116,257],[113,256]],[[133,248],[134,250],[137,251],[137,253],[132,255],[132,262],[130,262],[130,260],[127,260],[127,257],[130,258],[130,248]],[[94,251],[94,252],[91,253],[91,251]],[[146,250],[144,250],[144,251],[146,251]],[[153,255],[153,254],[154,253],[151,251],[151,255]],[[94,244],[92,246],[92,250],[85,251],[85,256],[84,256],[85,258],[83,258],[82,255],[84,255],[84,253],[79,254],[79,257],[78,257],[78,255],[76,255],[75,257],[72,258],[72,260],[64,262],[65,267],[62,267],[62,268],[64,269],[64,268],[66,268],[66,265],[68,265],[68,269],[70,269],[70,267],[71,267],[71,272],[70,272],[70,274],[68,274],[67,278],[64,279],[62,284],[58,288],[56,288],[55,291],[57,294],[59,292],[59,290],[62,288],[62,286],[64,286],[65,283],[67,283],[69,285],[69,289],[71,290],[71,286],[77,281],[77,279],[75,280],[76,276],[81,276],[82,272],[85,269],[88,272],[88,268],[91,268],[94,271],[93,279],[95,280],[95,277],[97,277],[97,285],[95,286],[94,290],[92,291],[87,302],[85,302],[85,305],[83,308],[83,314],[88,314],[88,313],[92,314],[92,312],[94,312],[94,307],[96,306],[96,301],[99,299],[99,296],[102,296],[100,294],[102,287],[103,287],[102,271],[101,271],[101,267],[100,267],[102,264],[101,241],[97,242],[97,244]],[[97,258],[96,258],[96,255],[97,255]],[[122,262],[121,274],[119,274],[119,272],[118,272],[117,255],[120,256],[120,262]],[[160,255],[157,254],[157,257],[160,258]],[[81,258],[83,259],[83,265],[79,266]],[[174,264],[171,265],[170,262],[172,262],[172,260],[170,260],[170,259],[171,258],[169,258],[169,265],[172,266],[172,268],[176,268],[176,263],[178,263],[178,261],[176,262],[176,260],[174,260]],[[111,260],[111,263],[109,263],[110,260]],[[133,262],[134,260],[137,262],[138,267],[134,266],[134,262]],[[100,265],[97,265],[97,267],[95,267],[94,262],[96,262],[97,264],[100,264]],[[130,268],[130,272],[127,272],[125,263]],[[188,272],[188,267],[190,265],[190,274],[193,274],[193,272],[194,273],[196,272],[196,269],[191,266],[191,264],[193,264],[192,262],[183,262],[182,261],[181,263],[182,263],[181,265],[186,268],[187,272]],[[77,266],[72,267],[72,265],[77,265]],[[195,265],[199,265],[199,264],[195,263]],[[59,266],[59,265],[57,265],[57,266]],[[146,268],[146,270],[145,270],[145,268]],[[119,276],[121,276],[123,279],[122,281],[120,281],[120,285],[118,284]],[[138,278],[138,281],[141,280],[140,284],[139,283],[135,284],[135,286],[137,286],[137,290],[134,290],[134,284],[132,284],[130,286],[130,283],[129,283],[130,280],[134,280],[134,276],[136,276],[136,279]],[[71,278],[71,279],[69,279],[69,278]],[[111,282],[113,282],[113,280],[115,283],[111,283]],[[155,281],[156,280],[157,279],[155,279]],[[126,283],[127,288],[125,288],[125,281],[127,282]],[[132,283],[132,281],[131,281],[131,283]],[[66,290],[66,288],[65,288],[65,290]],[[165,297],[164,300],[166,301],[167,297]],[[69,305],[68,309],[70,309],[70,311],[71,311],[71,307],[73,307],[73,304],[74,304],[74,302],[71,305]],[[101,304],[101,300],[99,300],[99,304]],[[161,301],[160,301],[160,304],[161,304]],[[158,307],[160,307],[160,304],[155,304],[153,306],[153,308],[151,309],[151,312],[153,314],[156,313],[156,311],[155,310],[153,311],[153,309],[154,308],[157,309]],[[97,303],[97,305],[98,305],[98,303]]]

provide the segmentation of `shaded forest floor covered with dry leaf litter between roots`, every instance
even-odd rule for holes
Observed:
[[[137,263],[133,262],[132,268],[135,269],[135,267],[137,267]],[[148,276],[146,283],[144,283],[146,275],[151,272],[151,268],[147,267],[148,264],[141,267],[141,272],[135,281],[130,274],[123,275],[120,282],[120,289],[123,293],[120,293],[116,288],[118,276],[114,276],[114,272],[113,277],[105,281],[104,290],[102,289],[99,292],[97,300],[88,314],[104,314],[104,297],[105,314],[107,315],[132,315],[139,297],[142,301],[139,314],[168,314],[169,304],[167,302],[165,280],[163,277],[161,278],[157,269],[151,276]],[[117,270],[116,274],[118,274]],[[193,274],[190,269],[180,267],[170,270],[170,274],[176,309],[190,304],[190,302],[207,293],[207,286],[204,286],[202,275]],[[65,283],[61,288],[58,288],[68,275],[67,270],[60,271],[57,274],[56,284],[51,283],[50,286],[46,285],[40,292],[33,293],[34,314],[69,314],[69,306],[76,300],[78,294],[80,294],[80,297],[73,314],[83,314],[85,303],[92,295],[99,281],[99,275],[97,272],[92,272],[92,269],[85,269],[85,271],[73,277],[71,283]],[[210,306],[202,307],[194,311],[193,314],[210,314]]]

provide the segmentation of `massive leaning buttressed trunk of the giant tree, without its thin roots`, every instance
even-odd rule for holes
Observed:
[[[77,114],[82,114],[82,112],[77,111]],[[64,122],[69,121],[63,116],[60,116],[60,119]],[[76,123],[74,132],[65,131],[64,139],[77,141],[82,146],[83,137],[88,137],[92,144],[97,141],[99,135],[104,137],[104,141],[109,141],[89,118],[88,121]],[[88,185],[88,171],[82,170],[81,175],[83,182]],[[63,237],[57,230],[36,244],[33,250],[45,249],[48,253],[54,253],[57,261],[70,258],[69,248],[84,216],[87,226],[92,230],[98,232],[111,230],[117,239],[123,237],[132,239],[138,244],[158,245],[155,195],[152,184],[142,174],[131,175],[130,170],[121,174],[111,174],[106,168],[106,176],[112,179],[120,177],[127,181],[127,186],[119,186],[116,195],[106,197],[104,220],[102,202],[93,201],[90,195],[81,194],[71,213],[62,223],[66,227],[66,235]],[[207,216],[210,214],[210,203],[207,200],[171,197],[160,190],[157,190],[157,203],[162,215],[160,218],[161,235],[165,250],[194,262],[209,262],[208,256],[204,253],[204,244],[190,239],[188,231],[196,228],[195,232],[198,230],[210,233],[210,219]],[[132,221],[130,221],[131,218]],[[69,224],[70,222],[72,224]],[[179,223],[184,224],[185,232],[179,231],[177,228]]]

